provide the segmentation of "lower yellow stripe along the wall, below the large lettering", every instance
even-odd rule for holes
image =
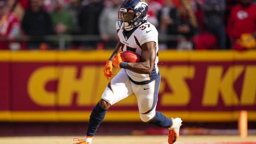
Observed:
[[[161,111],[167,117],[181,117],[184,122],[234,122],[239,111],[234,112],[196,112]],[[0,121],[10,122],[88,122],[91,111],[0,111]],[[139,122],[138,111],[109,111],[106,122]],[[248,111],[248,121],[256,121],[256,111]]]

